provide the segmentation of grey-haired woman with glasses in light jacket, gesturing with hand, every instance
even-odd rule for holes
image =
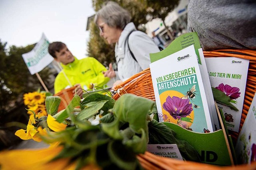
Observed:
[[[160,51],[154,41],[142,31],[137,31],[127,10],[116,2],[107,2],[96,14],[94,22],[100,29],[102,36],[109,44],[116,43],[115,57],[118,72],[112,64],[104,76],[118,77],[113,88],[130,76],[149,67],[150,53]],[[118,75],[117,75],[118,74]]]

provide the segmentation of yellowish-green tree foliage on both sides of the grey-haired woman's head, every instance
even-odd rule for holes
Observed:
[[[92,6],[97,12],[108,0],[92,0]],[[151,16],[151,19],[161,18],[163,21],[169,12],[172,12],[179,4],[179,0],[112,0],[117,2],[128,10],[132,16],[131,21],[136,27],[140,24],[145,24],[148,21],[146,16]],[[148,17],[147,17],[148,18]],[[165,23],[164,26],[166,27]],[[167,29],[167,27],[166,27]],[[172,38],[172,33],[168,31],[169,37]],[[105,66],[115,62],[114,45],[108,45],[106,41],[99,35],[98,27],[95,23],[90,25],[90,41],[88,43],[88,56],[96,58]]]

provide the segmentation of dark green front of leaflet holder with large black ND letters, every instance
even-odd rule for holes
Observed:
[[[175,137],[188,142],[200,155],[202,163],[224,166],[234,165],[234,147],[231,136],[228,135],[224,117],[216,103],[216,110],[220,120],[221,129],[212,133],[196,133],[189,131],[174,123],[163,122],[176,132]]]

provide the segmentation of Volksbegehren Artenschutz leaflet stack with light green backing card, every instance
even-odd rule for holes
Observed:
[[[150,54],[150,59],[160,122],[198,133],[220,129],[197,33],[178,37],[164,51]]]

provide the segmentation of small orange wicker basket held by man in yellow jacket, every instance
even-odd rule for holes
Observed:
[[[65,109],[68,104],[71,102],[72,98],[74,97],[73,90],[75,90],[76,87],[71,87],[68,89],[64,89],[57,94],[54,94],[54,96],[59,96],[61,99],[58,112]]]

